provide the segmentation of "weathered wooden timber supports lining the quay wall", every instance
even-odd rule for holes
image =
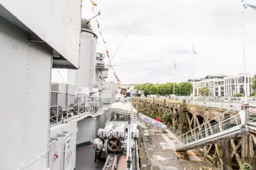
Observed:
[[[150,114],[155,112],[159,117],[167,114],[171,121],[172,125],[175,125],[176,128],[185,133],[194,128],[199,127],[201,124],[204,124],[208,120],[215,118],[220,113],[223,113],[224,110],[216,108],[206,108],[201,106],[192,106],[186,104],[186,101],[181,103],[170,102],[166,99],[155,99],[155,98],[132,98],[133,107],[136,109],[144,109],[143,112]],[[193,111],[192,111],[193,109]],[[138,111],[140,112],[140,111]],[[228,113],[229,116],[231,113]],[[223,117],[224,118],[224,117]],[[214,120],[212,123],[203,125],[198,128],[199,132],[202,131],[205,135],[213,134],[214,130],[211,128],[212,124],[219,122],[219,120]],[[207,127],[205,127],[207,126]],[[210,128],[209,131],[204,129]],[[219,125],[219,130],[222,131],[222,125]],[[192,134],[194,132],[192,131]],[[237,135],[235,139],[229,139],[224,142],[209,144],[208,146],[203,147],[203,155],[205,158],[214,161],[213,155],[218,159],[219,165],[229,164],[229,160],[223,160],[222,157],[227,157],[230,155],[232,164],[234,161],[237,162],[240,168],[242,168],[243,163],[251,163],[252,167],[255,167],[253,170],[256,170],[255,159],[256,159],[256,132],[250,132],[247,135]],[[203,134],[198,134],[197,138],[204,137]],[[218,142],[218,141],[216,141]],[[223,166],[223,169],[224,166]],[[229,169],[228,169],[229,170]]]

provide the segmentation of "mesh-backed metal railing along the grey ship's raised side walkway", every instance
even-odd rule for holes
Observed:
[[[57,124],[66,119],[75,118],[85,113],[92,115],[102,112],[112,104],[112,98],[95,98],[86,94],[70,95],[51,92],[50,122]]]

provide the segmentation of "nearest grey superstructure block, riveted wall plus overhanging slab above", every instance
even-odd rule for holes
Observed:
[[[51,72],[79,68],[80,30],[81,0],[0,0],[1,170],[47,170],[54,161]],[[75,134],[73,126],[67,131]],[[73,138],[65,129],[56,137]],[[69,139],[64,142],[70,146]],[[75,161],[70,152],[65,157]]]

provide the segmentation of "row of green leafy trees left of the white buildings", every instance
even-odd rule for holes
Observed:
[[[165,84],[153,84],[153,83],[143,83],[134,86],[134,89],[144,90],[145,95],[149,94],[159,94],[168,95],[173,94],[173,83],[174,83],[174,94],[176,96],[188,96],[193,91],[193,86],[190,82],[167,82]]]

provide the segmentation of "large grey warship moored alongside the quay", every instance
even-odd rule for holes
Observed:
[[[155,120],[105,80],[109,63],[81,8],[0,0],[1,170],[85,170],[88,157],[105,158],[100,169],[139,170],[137,126]],[[53,69],[67,69],[67,83],[52,83]],[[95,155],[77,156],[90,145]]]

